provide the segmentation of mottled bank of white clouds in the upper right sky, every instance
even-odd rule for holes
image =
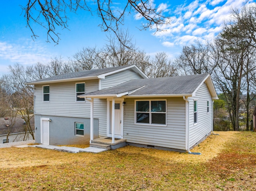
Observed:
[[[244,0],[195,0],[190,4],[169,6],[174,9],[170,11],[171,22],[162,26],[166,32],[156,32],[155,36],[164,41],[165,47],[186,45],[196,39],[212,41],[221,32],[223,21],[230,17],[230,8],[241,8],[244,3]],[[252,3],[253,0],[247,2]]]

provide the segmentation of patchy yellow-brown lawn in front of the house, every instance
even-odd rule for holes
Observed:
[[[256,190],[256,133],[218,132],[193,152],[0,149],[0,190]]]

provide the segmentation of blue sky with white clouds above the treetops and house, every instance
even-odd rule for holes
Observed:
[[[120,7],[122,0],[116,2],[116,7]],[[184,45],[197,39],[201,42],[211,41],[218,35],[223,20],[229,18],[230,8],[240,9],[245,3],[252,4],[255,0],[154,0],[153,3],[171,18],[171,24],[162,28],[165,32],[156,32],[154,28],[138,30],[144,21],[139,20],[135,13],[126,15],[123,28],[128,29],[139,49],[149,55],[165,51],[170,59],[174,59]],[[36,26],[34,31],[39,37],[33,41],[20,5],[25,6],[26,0],[1,2],[0,75],[8,73],[8,65],[14,63],[46,64],[56,56],[68,60],[83,47],[101,48],[107,43],[107,33],[98,26],[101,24],[100,18],[86,11],[68,14],[69,30],[58,30],[61,34],[58,45],[46,42],[46,30],[40,26]]]

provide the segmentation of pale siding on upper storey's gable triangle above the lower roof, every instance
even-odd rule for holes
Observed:
[[[100,79],[100,89],[106,89],[124,83],[132,79],[142,79],[142,77],[134,71],[121,71],[108,75],[105,79]]]

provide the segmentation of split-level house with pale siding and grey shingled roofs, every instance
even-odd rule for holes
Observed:
[[[211,134],[209,74],[149,79],[136,65],[65,73],[34,85],[36,142],[112,143],[186,152]]]

